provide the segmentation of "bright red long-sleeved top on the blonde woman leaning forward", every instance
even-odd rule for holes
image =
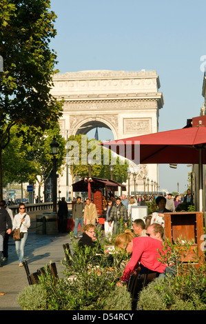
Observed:
[[[121,280],[128,281],[130,279],[130,274],[132,274],[132,272],[134,272],[134,270],[138,267],[138,262],[147,267],[149,270],[163,273],[167,265],[157,260],[160,258],[158,249],[160,251],[163,250],[161,241],[147,236],[134,237],[132,257],[125,267]]]

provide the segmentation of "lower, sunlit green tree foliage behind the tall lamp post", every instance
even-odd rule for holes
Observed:
[[[59,152],[56,156],[57,170],[61,173],[65,157],[65,139],[60,134],[59,123],[54,123],[52,128],[41,131],[41,136],[33,133],[25,141],[25,136],[17,136],[17,125],[10,132],[10,143],[3,150],[3,184],[28,182],[39,183],[39,190],[45,179],[52,171],[52,154],[50,143],[53,136],[59,143]],[[28,127],[22,126],[23,133],[28,134]],[[39,130],[40,132],[40,130]]]

